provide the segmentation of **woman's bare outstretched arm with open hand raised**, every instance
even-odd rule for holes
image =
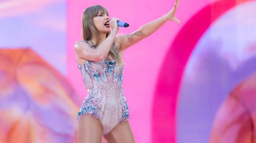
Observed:
[[[179,0],[176,0],[173,9],[171,9],[171,11],[168,12],[168,14],[165,14],[154,21],[144,24],[138,30],[131,34],[118,36],[117,39],[120,42],[120,50],[124,51],[126,48],[136,44],[143,38],[147,38],[156,30],[158,30],[167,21],[176,21],[178,24],[180,24],[180,21],[175,16],[175,12],[177,10],[178,5]]]

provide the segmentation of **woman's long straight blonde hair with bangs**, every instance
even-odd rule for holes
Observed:
[[[96,38],[96,44],[93,47],[96,47],[100,42],[99,31],[96,29],[96,26],[93,22],[93,18],[97,17],[97,15],[101,12],[102,14],[108,15],[108,11],[100,5],[89,6],[83,11],[82,15],[82,39],[83,41],[89,41],[92,37]],[[110,32],[106,34],[106,38],[109,36]],[[121,63],[121,57],[119,55],[118,50],[114,47],[113,44],[111,49],[108,52],[108,56],[113,57],[116,63]]]

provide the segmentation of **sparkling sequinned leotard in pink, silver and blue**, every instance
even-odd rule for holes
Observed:
[[[123,95],[123,63],[117,65],[115,60],[87,60],[83,65],[78,64],[78,68],[88,94],[79,110],[76,124],[80,117],[91,114],[91,117],[102,122],[102,135],[105,135],[117,123],[129,120],[128,105]]]

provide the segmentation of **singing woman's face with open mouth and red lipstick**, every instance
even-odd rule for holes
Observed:
[[[105,22],[109,20],[109,16],[102,13],[98,13],[96,17],[93,18],[94,24],[99,32],[108,33],[111,32],[110,26],[105,26]]]

